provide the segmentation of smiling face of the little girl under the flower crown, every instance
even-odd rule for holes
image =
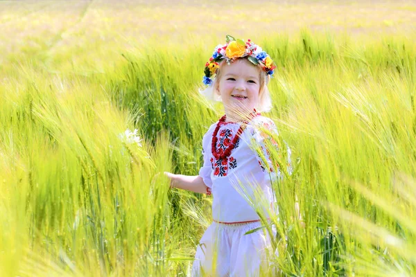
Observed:
[[[260,70],[247,59],[223,63],[216,90],[228,119],[238,120],[252,112],[259,101]]]

